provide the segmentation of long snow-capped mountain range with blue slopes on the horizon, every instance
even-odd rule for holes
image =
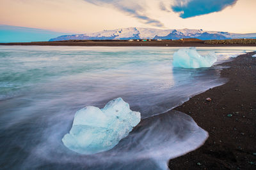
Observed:
[[[100,32],[59,36],[49,41],[69,39],[234,39],[256,38],[256,33],[235,34],[221,31],[203,31],[202,29],[151,29],[129,27],[123,29],[104,30]]]

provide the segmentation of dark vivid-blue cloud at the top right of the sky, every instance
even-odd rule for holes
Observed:
[[[181,18],[189,18],[221,11],[236,2],[237,0],[175,0],[172,10],[180,13]]]

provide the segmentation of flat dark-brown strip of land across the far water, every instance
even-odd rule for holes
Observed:
[[[182,40],[162,40],[162,41],[42,41],[30,43],[0,43],[0,45],[24,45],[24,46],[256,46],[256,43],[223,43],[223,44],[209,44],[204,40],[196,41],[182,41]]]

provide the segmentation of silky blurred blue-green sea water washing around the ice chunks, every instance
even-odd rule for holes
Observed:
[[[166,169],[207,132],[184,113],[162,114],[225,83],[220,69],[172,67],[177,47],[0,46],[0,167],[3,169]],[[216,64],[254,47],[197,48]],[[122,97],[139,127],[104,153],[84,156],[61,143],[77,110]],[[157,115],[157,116],[154,116]],[[147,166],[145,166],[147,165]]]

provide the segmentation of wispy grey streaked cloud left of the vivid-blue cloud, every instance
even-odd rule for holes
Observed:
[[[131,17],[138,18],[142,20],[145,24],[150,24],[157,27],[163,27],[163,23],[154,18],[147,17],[145,15],[145,8],[147,8],[146,1],[138,1],[138,0],[84,0],[88,3],[96,4],[99,6],[113,6],[114,8],[125,12],[127,15]]]

